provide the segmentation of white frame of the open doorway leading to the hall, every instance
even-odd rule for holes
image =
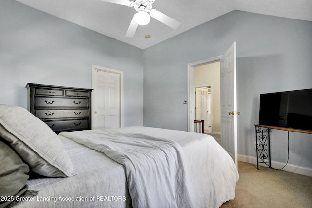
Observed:
[[[187,131],[194,132],[194,67],[220,61],[221,56],[187,64]]]

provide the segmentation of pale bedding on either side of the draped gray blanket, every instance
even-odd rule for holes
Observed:
[[[194,208],[218,208],[235,197],[238,180],[229,154],[206,134],[147,127],[124,128],[130,132],[152,131],[154,137],[172,139],[183,151],[188,188]],[[123,130],[122,130],[123,131]],[[16,208],[128,208],[132,207],[125,167],[104,153],[59,135],[78,172],[68,178],[36,178],[27,181],[38,191]],[[155,190],[161,191],[161,190]],[[159,199],[161,200],[161,199]]]

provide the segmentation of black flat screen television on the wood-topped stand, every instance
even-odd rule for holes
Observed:
[[[259,124],[312,130],[312,89],[261,94]]]

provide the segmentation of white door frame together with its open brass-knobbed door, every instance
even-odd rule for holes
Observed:
[[[194,132],[194,67],[220,61],[221,95],[221,146],[229,153],[237,167],[237,90],[236,90],[236,42],[218,57],[187,65],[187,118],[188,131]]]

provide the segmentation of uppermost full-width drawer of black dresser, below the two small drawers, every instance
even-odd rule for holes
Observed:
[[[89,107],[89,99],[36,97],[35,107]]]

